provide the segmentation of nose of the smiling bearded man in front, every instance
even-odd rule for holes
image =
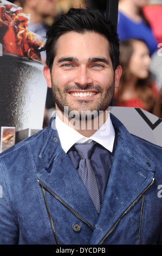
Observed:
[[[90,75],[90,71],[87,69],[86,66],[80,67],[75,75],[74,78],[75,84],[80,84],[80,86],[85,87],[87,84],[92,84],[93,79],[92,76]]]

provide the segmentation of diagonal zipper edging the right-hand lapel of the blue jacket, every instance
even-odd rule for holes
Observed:
[[[102,243],[107,239],[107,237],[114,231],[114,229],[116,228],[116,226],[118,225],[118,223],[120,222],[121,218],[124,217],[127,212],[129,210],[132,209],[132,207],[139,201],[139,199],[143,196],[143,194],[148,190],[148,188],[150,188],[153,185],[154,182],[154,178],[152,179],[151,183],[145,188],[144,191],[142,191],[142,193],[140,193],[140,195],[133,201],[133,203],[131,205],[128,206],[128,208],[120,215],[120,217],[118,218],[118,220],[115,222],[115,224],[113,225],[113,227],[107,232],[107,234],[103,237],[103,239],[98,243],[98,245],[102,245]]]

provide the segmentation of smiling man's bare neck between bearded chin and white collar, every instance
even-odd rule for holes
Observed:
[[[105,111],[101,112],[100,115],[90,120],[85,120],[84,118],[80,120],[80,119],[69,117],[68,114],[64,114],[57,107],[56,107],[56,112],[58,117],[64,123],[66,123],[68,126],[72,127],[75,131],[79,132],[81,135],[85,137],[92,136],[93,133],[96,132],[96,130],[100,129],[100,127],[105,123],[108,117],[108,108]]]

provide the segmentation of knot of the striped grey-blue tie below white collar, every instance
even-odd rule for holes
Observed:
[[[90,156],[92,154],[93,147],[95,145],[95,142],[91,143],[76,143],[74,145],[77,153],[81,157],[81,159],[90,159]]]

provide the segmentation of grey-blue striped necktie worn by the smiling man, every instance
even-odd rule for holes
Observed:
[[[96,211],[100,212],[100,195],[99,188],[95,178],[95,173],[90,162],[90,157],[92,154],[95,142],[92,143],[76,143],[74,145],[77,153],[79,154],[81,160],[79,163],[79,175],[83,181],[83,184],[87,188],[90,198],[96,208]]]

